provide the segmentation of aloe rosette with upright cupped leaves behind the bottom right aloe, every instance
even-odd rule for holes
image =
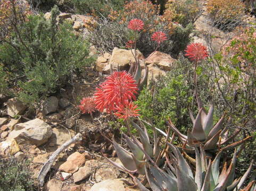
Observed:
[[[199,113],[197,114],[196,118],[194,118],[192,112],[189,111],[190,117],[193,121],[193,128],[192,131],[188,131],[187,136],[180,133],[178,128],[175,127],[171,120],[167,121],[168,126],[172,129],[172,131],[175,132],[181,143],[186,145],[187,152],[194,152],[194,146],[199,147],[199,145],[203,145],[204,150],[217,150],[218,147],[220,148],[220,146],[224,145],[225,147],[223,147],[222,150],[233,149],[252,137],[248,136],[241,141],[228,145],[228,143],[233,141],[238,133],[240,133],[241,128],[237,128],[232,136],[227,137],[228,128],[222,127],[225,113],[222,115],[219,121],[213,125],[213,105],[210,106],[208,113],[204,109],[200,98],[197,99],[197,105],[199,106]],[[167,134],[160,129],[156,129],[163,135],[167,136]]]

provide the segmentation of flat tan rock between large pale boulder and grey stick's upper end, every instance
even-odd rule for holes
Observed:
[[[52,137],[49,140],[49,144],[51,145],[62,145],[65,142],[67,142],[68,140],[70,140],[70,135],[69,132],[67,131],[67,129],[64,128],[53,128],[53,134]],[[73,132],[72,130],[69,130],[71,136],[75,136],[75,132]]]

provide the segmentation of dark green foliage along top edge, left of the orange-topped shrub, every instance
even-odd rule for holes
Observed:
[[[119,11],[123,8],[126,0],[71,0],[75,10],[79,14],[94,14],[107,17],[111,10]]]

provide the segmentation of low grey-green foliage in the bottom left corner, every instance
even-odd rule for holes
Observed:
[[[33,191],[34,186],[29,161],[16,161],[0,159],[0,191]]]

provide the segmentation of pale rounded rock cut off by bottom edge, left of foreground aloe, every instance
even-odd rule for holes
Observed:
[[[126,191],[125,184],[121,179],[104,180],[96,183],[90,191]],[[131,189],[129,189],[131,190]]]

